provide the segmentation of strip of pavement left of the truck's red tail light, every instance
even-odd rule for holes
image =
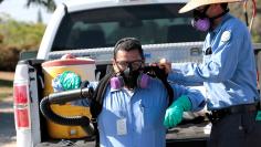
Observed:
[[[12,97],[0,101],[0,146],[15,147]]]

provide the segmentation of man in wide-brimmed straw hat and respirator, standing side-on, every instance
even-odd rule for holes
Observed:
[[[243,22],[228,13],[228,3],[237,1],[240,0],[190,0],[179,12],[192,10],[192,25],[208,31],[203,61],[170,64],[161,60],[159,64],[174,82],[206,86],[207,107],[211,112],[208,117],[212,123],[210,147],[261,146],[261,122],[255,119],[260,99],[251,35]]]

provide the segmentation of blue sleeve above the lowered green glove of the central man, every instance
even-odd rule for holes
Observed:
[[[187,96],[192,105],[191,112],[198,112],[202,109],[206,105],[206,98],[199,90],[185,87],[182,85],[173,84],[174,87],[174,97],[177,99],[178,97],[185,95]]]

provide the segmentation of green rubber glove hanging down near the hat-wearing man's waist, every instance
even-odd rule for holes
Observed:
[[[164,118],[164,126],[170,128],[178,125],[182,120],[184,112],[190,111],[191,107],[192,104],[187,96],[182,95],[178,97],[178,99],[174,101],[167,108]]]

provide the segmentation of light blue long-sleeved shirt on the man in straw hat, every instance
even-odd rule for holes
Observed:
[[[208,54],[207,49],[212,53]],[[203,83],[209,95],[209,109],[258,99],[254,53],[244,23],[226,14],[222,22],[207,34],[202,53],[202,64],[173,64],[169,80],[185,85]]]

